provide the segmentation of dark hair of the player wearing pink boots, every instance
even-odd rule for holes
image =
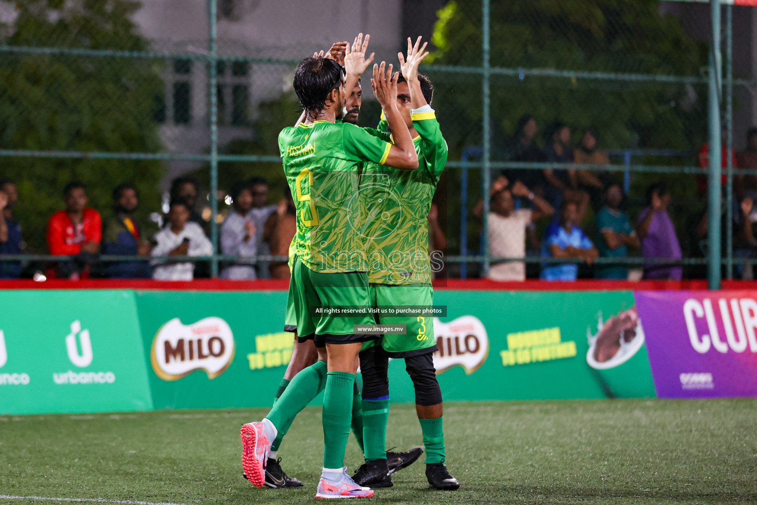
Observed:
[[[344,67],[329,58],[305,58],[300,62],[294,72],[294,92],[310,119],[326,108],[329,93],[343,79]]]

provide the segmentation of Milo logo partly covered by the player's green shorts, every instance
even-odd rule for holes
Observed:
[[[474,373],[489,354],[489,336],[484,323],[476,316],[460,316],[449,323],[434,318],[434,353],[437,375],[453,366],[462,366],[466,374]]]

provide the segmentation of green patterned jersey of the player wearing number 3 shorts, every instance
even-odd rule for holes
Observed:
[[[431,282],[427,217],[447,163],[447,142],[441,135],[435,112],[427,110],[412,116],[418,132],[413,142],[419,167],[407,171],[366,164],[360,180],[360,195],[366,207],[363,235],[372,283]],[[378,129],[385,128],[382,120]]]

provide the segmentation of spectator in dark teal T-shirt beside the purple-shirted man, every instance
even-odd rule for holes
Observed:
[[[639,248],[639,237],[631,226],[631,220],[623,210],[623,190],[617,182],[605,189],[605,206],[597,214],[597,249],[600,257],[628,257],[628,248]],[[599,264],[594,269],[597,279],[628,279],[628,267],[624,264]]]

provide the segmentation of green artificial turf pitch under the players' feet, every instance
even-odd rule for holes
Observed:
[[[305,482],[294,490],[242,479],[239,427],[265,413],[0,416],[0,494],[312,503],[320,408],[301,413],[279,450],[285,471]],[[459,491],[428,489],[422,458],[372,501],[757,503],[757,399],[457,403],[446,407],[444,432]],[[412,406],[392,407],[387,438],[400,449],[421,443]],[[350,436],[346,464],[360,463]]]

